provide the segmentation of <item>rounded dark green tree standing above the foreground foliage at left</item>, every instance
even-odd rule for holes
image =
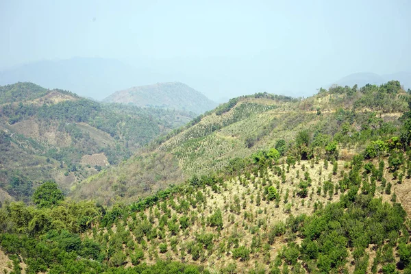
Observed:
[[[38,207],[49,208],[63,201],[64,195],[55,182],[45,182],[36,189],[32,199]]]

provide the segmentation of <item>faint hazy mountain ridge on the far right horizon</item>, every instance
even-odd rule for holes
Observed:
[[[355,84],[358,86],[365,86],[366,84],[381,85],[390,80],[399,80],[406,90],[411,88],[411,73],[408,72],[386,75],[378,75],[376,73],[352,73],[332,84],[337,84],[338,86],[353,86]]]

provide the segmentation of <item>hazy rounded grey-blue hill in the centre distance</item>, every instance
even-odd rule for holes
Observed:
[[[178,82],[136,86],[114,92],[103,100],[108,103],[125,103],[140,107],[184,110],[202,114],[216,107],[216,103],[186,84]]]

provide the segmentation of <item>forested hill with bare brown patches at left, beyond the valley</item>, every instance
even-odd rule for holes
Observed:
[[[53,179],[69,191],[192,117],[98,103],[32,83],[0,86],[0,188],[27,200],[36,184]],[[5,192],[0,198],[7,197]]]

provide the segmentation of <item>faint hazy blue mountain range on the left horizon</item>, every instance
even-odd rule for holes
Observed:
[[[97,100],[115,90],[154,83],[157,79],[149,69],[136,69],[119,60],[105,58],[42,60],[0,72],[0,85],[33,82],[45,88],[71,90]]]

